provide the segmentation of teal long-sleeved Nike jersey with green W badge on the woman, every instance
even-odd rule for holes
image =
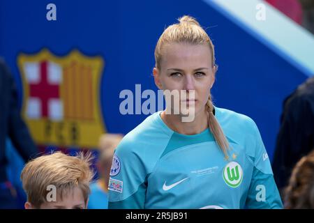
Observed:
[[[215,107],[229,160],[207,129],[185,135],[147,117],[114,153],[108,208],[283,208],[256,124]]]

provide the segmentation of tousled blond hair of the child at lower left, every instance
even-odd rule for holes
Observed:
[[[70,156],[61,152],[43,155],[28,162],[22,170],[21,180],[27,201],[40,208],[47,201],[47,188],[54,185],[60,199],[74,187],[80,187],[84,201],[90,194],[89,183],[94,177],[90,169],[91,153]]]

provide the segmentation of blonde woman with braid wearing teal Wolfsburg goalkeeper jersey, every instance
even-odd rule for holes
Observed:
[[[122,139],[109,208],[282,208],[254,121],[211,102],[217,66],[200,24],[184,16],[168,26],[155,59],[158,89],[185,91],[188,99],[179,98],[179,114],[167,105]],[[183,121],[186,114],[193,120]]]

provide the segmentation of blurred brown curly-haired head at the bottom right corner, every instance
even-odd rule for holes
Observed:
[[[285,189],[285,208],[314,209],[314,150],[295,165]]]

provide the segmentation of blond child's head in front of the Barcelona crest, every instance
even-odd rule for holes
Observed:
[[[28,162],[21,174],[25,209],[86,209],[94,176],[91,158],[91,153],[57,152]]]

